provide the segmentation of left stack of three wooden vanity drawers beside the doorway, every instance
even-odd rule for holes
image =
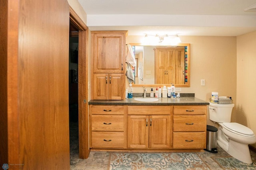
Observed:
[[[90,148],[125,147],[124,106],[90,105]]]

